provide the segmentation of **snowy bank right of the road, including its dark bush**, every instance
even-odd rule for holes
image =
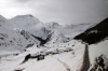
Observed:
[[[99,59],[100,57],[102,59]],[[92,66],[90,67],[89,71],[95,68],[96,71],[108,71],[108,40],[105,40],[98,44],[90,45],[90,60]]]

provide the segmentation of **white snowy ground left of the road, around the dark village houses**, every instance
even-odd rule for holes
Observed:
[[[68,44],[73,45],[75,44],[73,41],[75,40],[70,41],[71,44],[69,44],[70,42],[68,42],[67,44],[65,43],[64,45],[66,45],[66,47],[68,47]],[[64,45],[62,47],[64,47]],[[11,55],[8,57],[2,57],[0,61],[0,71],[14,71],[17,69],[21,70],[24,69],[23,71],[66,71],[68,69],[70,71],[76,71],[80,69],[81,62],[83,60],[82,57],[84,52],[84,44],[81,44],[81,42],[76,41],[75,46],[73,47],[71,46],[71,48],[73,48],[73,51],[71,52],[68,53],[65,52],[56,55],[48,55],[43,60],[39,61],[37,61],[37,58],[28,59],[28,61],[26,61],[25,63],[19,65],[24,60],[25,56],[31,53],[31,49],[32,51],[35,49],[35,46],[32,47],[33,48],[29,48],[25,53],[21,53],[18,56]],[[55,47],[55,48],[64,49],[62,47]],[[55,48],[51,47],[49,49],[54,51]],[[49,49],[46,49],[46,52]],[[40,49],[38,48],[37,51]]]

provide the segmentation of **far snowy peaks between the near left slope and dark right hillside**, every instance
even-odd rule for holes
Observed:
[[[38,37],[44,43],[59,43],[72,39],[75,36],[81,33],[93,24],[68,25],[63,27],[57,23],[43,24],[32,15],[18,15],[11,19],[19,28],[30,32],[33,37]],[[49,39],[49,41],[48,41]]]

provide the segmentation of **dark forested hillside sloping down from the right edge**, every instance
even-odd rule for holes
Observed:
[[[104,19],[94,27],[89,28],[84,32],[75,37],[76,40],[82,40],[89,44],[103,41],[108,37],[108,18]]]

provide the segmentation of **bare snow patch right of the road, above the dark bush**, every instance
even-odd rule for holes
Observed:
[[[94,62],[95,57],[100,55],[105,55],[106,58],[106,66],[108,66],[108,40],[102,41],[98,44],[90,45],[90,60],[91,63]]]

